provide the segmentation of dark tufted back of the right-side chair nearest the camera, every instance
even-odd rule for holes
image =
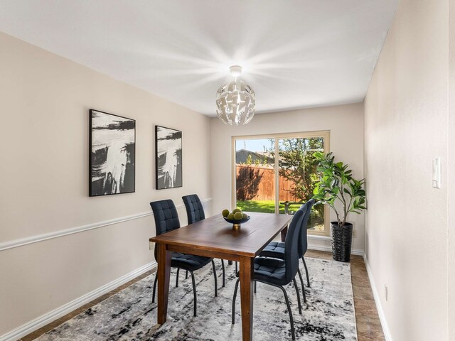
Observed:
[[[298,210],[287,229],[286,240],[284,241],[284,261],[286,261],[285,278],[287,282],[292,281],[299,267],[299,233],[303,219],[304,212]]]

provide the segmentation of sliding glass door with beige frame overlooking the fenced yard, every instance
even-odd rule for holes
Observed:
[[[319,181],[314,153],[327,152],[328,141],[328,131],[233,138],[234,205],[245,212],[293,215],[313,196]],[[315,205],[309,229],[328,235],[328,219],[327,207]]]

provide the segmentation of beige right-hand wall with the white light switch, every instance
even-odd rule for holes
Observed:
[[[395,341],[447,340],[448,9],[400,1],[365,97],[366,254]]]

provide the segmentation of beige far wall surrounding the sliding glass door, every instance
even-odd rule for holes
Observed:
[[[221,212],[231,206],[232,136],[321,130],[330,131],[330,148],[336,158],[348,163],[356,178],[363,178],[363,104],[257,114],[245,126],[227,126],[218,118],[212,119],[213,212]],[[335,220],[333,212],[331,220]],[[358,232],[353,239],[353,249],[363,250],[363,215],[350,215],[349,220],[354,223]],[[311,239],[309,244],[331,249],[330,238]]]

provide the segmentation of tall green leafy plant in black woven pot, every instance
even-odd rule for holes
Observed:
[[[314,153],[319,162],[316,170],[321,173],[314,188],[314,200],[328,204],[336,214],[331,222],[332,254],[336,261],[350,261],[350,246],[353,238],[353,224],[346,222],[350,212],[360,215],[365,210],[365,179],[355,180],[348,165],[335,162],[332,153]],[[341,202],[341,207],[336,202]]]

